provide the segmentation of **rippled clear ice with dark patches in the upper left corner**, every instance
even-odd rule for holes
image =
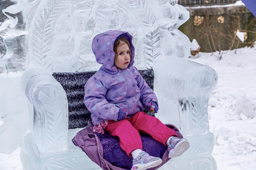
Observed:
[[[0,2],[0,75],[26,69],[26,14],[24,1]]]

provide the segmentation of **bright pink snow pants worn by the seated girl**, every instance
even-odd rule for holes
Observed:
[[[142,150],[142,141],[139,132],[149,134],[154,140],[166,146],[169,137],[177,134],[173,129],[165,126],[158,118],[144,112],[137,112],[133,117],[121,121],[108,120],[105,132],[119,137],[120,146],[130,157],[135,149]]]

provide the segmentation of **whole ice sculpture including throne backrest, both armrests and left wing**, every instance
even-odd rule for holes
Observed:
[[[173,124],[192,141],[187,154],[162,169],[169,169],[170,164],[173,169],[181,165],[184,169],[216,169],[210,156],[213,135],[207,104],[217,75],[210,67],[185,60],[191,43],[177,28],[189,12],[177,0],[0,3],[0,118],[4,121],[0,138],[11,141],[1,140],[0,152],[11,153],[21,145],[24,170],[98,168],[70,143],[78,129],[67,129],[65,92],[51,74],[97,70],[100,66],[91,52],[93,37],[120,29],[134,37],[135,66],[155,71],[155,92],[165,112],[159,118],[171,123],[168,115],[175,114]],[[165,80],[164,86],[157,84],[158,78]],[[172,112],[164,107],[166,102],[175,108]]]

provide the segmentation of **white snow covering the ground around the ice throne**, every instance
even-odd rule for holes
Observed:
[[[221,60],[211,53],[189,58],[213,67],[218,74],[208,106],[210,131],[215,136],[213,156],[218,170],[255,170],[256,48],[225,53]],[[0,153],[0,169],[22,170],[19,154],[20,148],[10,155]]]

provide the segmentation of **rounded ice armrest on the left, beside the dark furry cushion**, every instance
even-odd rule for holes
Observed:
[[[38,150],[42,153],[64,150],[68,102],[61,84],[41,68],[27,69],[20,84],[29,101],[30,130]]]

